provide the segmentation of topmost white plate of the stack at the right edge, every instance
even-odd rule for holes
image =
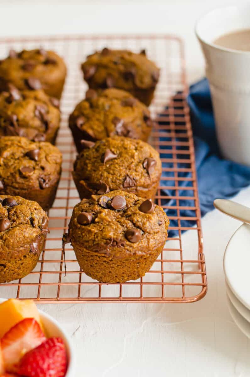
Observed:
[[[225,279],[238,300],[250,310],[250,225],[233,234],[224,254]]]

